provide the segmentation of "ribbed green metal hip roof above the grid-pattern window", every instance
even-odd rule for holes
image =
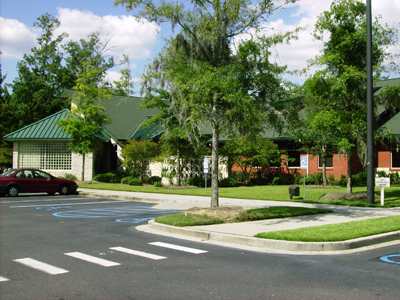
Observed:
[[[63,129],[57,126],[58,121],[65,118],[71,118],[67,108],[14,131],[3,139],[5,141],[68,141],[71,135],[65,134]],[[110,136],[102,131],[98,138],[109,140]]]

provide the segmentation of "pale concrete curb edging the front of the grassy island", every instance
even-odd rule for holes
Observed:
[[[273,250],[286,250],[286,251],[309,251],[309,252],[324,252],[324,251],[344,251],[357,249],[376,244],[391,242],[400,239],[400,231],[383,233],[379,235],[362,237],[353,240],[342,242],[290,242],[280,240],[261,239],[226,233],[208,232],[204,230],[197,230],[191,228],[175,227],[154,222],[148,222],[150,229],[162,231],[170,234],[184,235],[192,238],[202,240],[210,240],[223,242],[228,244],[237,244],[250,247],[266,248]]]

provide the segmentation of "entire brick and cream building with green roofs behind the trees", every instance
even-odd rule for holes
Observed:
[[[377,81],[374,83],[374,95],[379,95],[386,86],[399,86],[400,78]],[[74,98],[75,91],[64,90],[61,97]],[[111,124],[103,126],[101,136],[98,137],[98,147],[93,153],[86,156],[85,179],[90,180],[96,174],[116,170],[119,166],[120,151],[122,145],[130,140],[157,140],[163,133],[159,124],[145,126],[152,116],[158,114],[157,109],[141,109],[141,98],[131,96],[112,96],[112,100],[105,100],[101,103],[106,108],[106,113],[111,119]],[[384,126],[387,130],[397,137],[400,137],[400,112],[388,111],[383,107],[377,108],[380,115],[379,126]],[[82,171],[82,158],[68,149],[67,143],[69,136],[64,134],[61,128],[57,127],[57,122],[63,118],[69,118],[69,110],[64,109],[56,114],[48,116],[29,126],[14,131],[4,137],[4,140],[14,144],[13,167],[34,167],[43,169],[49,173],[59,176],[65,173],[73,174],[80,178]],[[201,130],[207,141],[210,138],[210,130],[206,126],[201,126]],[[282,136],[274,129],[268,129],[264,136],[279,145],[280,150],[286,152],[291,160],[283,157],[281,168],[287,172],[301,171],[300,158],[309,157],[307,173],[313,174],[322,171],[322,165],[318,156],[312,156],[300,150],[300,145],[293,141],[289,136]],[[228,139],[221,135],[220,143],[223,144]],[[207,144],[211,140],[207,141]],[[347,173],[346,156],[341,157],[333,154],[328,159],[327,174],[333,174],[336,179],[341,174]],[[354,170],[362,170],[361,164]],[[377,170],[386,172],[400,171],[400,147],[392,145],[389,141],[385,146],[376,147]],[[224,168],[224,166],[221,166]],[[151,175],[159,175],[160,169]],[[196,168],[197,170],[198,168]],[[201,168],[200,168],[201,169]],[[301,171],[302,172],[302,171]],[[224,174],[227,174],[224,171]]]

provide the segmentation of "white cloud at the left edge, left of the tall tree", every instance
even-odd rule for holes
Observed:
[[[14,19],[0,17],[0,41],[4,59],[21,59],[36,46],[37,30]]]

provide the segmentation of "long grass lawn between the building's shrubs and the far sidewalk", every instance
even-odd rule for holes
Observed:
[[[80,184],[81,188],[101,189],[101,190],[115,190],[115,191],[131,191],[143,193],[161,193],[161,194],[178,194],[178,195],[195,195],[195,196],[211,196],[211,188],[207,188],[207,193],[204,188],[157,188],[153,186],[130,186],[120,183],[98,183],[98,184]],[[366,187],[354,187],[353,192],[366,192]],[[333,192],[346,192],[346,188],[332,189],[332,188],[307,188],[306,187],[306,200],[303,199],[303,186],[300,186],[300,196],[293,197],[290,200],[289,186],[281,185],[266,185],[266,186],[251,186],[251,187],[235,187],[235,188],[219,188],[219,196],[227,198],[239,199],[257,199],[257,200],[274,200],[274,201],[287,201],[287,202],[304,202],[304,203],[318,203],[318,204],[333,204],[333,205],[347,205],[347,206],[369,206],[369,207],[382,207],[380,200],[375,200],[375,204],[369,204],[367,201],[333,201],[333,200],[319,200],[321,196]],[[375,193],[380,195],[381,189],[376,188]],[[400,187],[385,188],[385,206],[384,207],[398,207],[400,206]]]

